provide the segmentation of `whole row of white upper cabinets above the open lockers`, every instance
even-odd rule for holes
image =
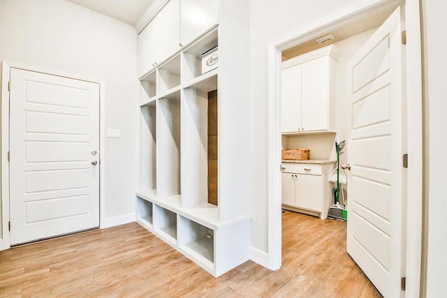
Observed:
[[[168,0],[138,36],[138,75],[149,73],[218,24],[219,0]]]

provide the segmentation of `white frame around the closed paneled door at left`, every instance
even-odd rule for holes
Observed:
[[[105,82],[83,75],[73,75],[72,73],[64,73],[59,70],[39,68],[15,62],[3,61],[1,66],[1,237],[0,251],[10,248],[10,231],[8,223],[10,221],[10,204],[9,204],[9,91],[8,82],[10,77],[10,68],[20,68],[22,70],[34,71],[36,73],[45,73],[47,75],[57,75],[59,77],[68,77],[74,80],[82,80],[99,84],[99,148],[100,148],[100,167],[99,167],[99,225],[100,228],[104,223],[105,214]]]

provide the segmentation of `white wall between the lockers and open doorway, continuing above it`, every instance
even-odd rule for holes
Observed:
[[[259,251],[268,253],[268,43],[356,3],[251,0],[251,245]]]

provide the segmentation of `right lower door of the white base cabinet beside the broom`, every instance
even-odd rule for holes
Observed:
[[[296,207],[323,211],[322,180],[323,177],[317,175],[297,174],[295,181]]]

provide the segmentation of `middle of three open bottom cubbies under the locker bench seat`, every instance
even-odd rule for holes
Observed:
[[[177,243],[177,214],[154,204],[153,226],[167,241]]]

